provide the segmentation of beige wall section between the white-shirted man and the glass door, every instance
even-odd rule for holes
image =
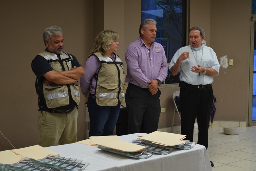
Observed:
[[[217,57],[228,55],[234,65],[220,67],[213,82],[216,120],[248,119],[248,68],[252,1],[211,1],[211,47]]]

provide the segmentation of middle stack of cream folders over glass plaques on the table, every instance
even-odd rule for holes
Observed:
[[[100,150],[137,159],[148,159],[154,154],[154,152],[148,152],[147,147],[121,141],[118,136],[91,136],[89,138],[77,143],[95,146]]]

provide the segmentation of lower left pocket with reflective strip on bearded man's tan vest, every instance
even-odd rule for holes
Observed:
[[[43,90],[45,102],[48,108],[56,108],[69,104],[67,85],[51,83],[46,86],[43,84]]]

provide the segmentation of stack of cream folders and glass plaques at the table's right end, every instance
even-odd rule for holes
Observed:
[[[141,135],[139,137],[139,139],[133,140],[132,143],[147,146],[148,149],[155,149],[158,147],[157,150],[159,150],[165,146],[169,147],[169,149],[174,147],[189,150],[196,145],[194,142],[184,140],[186,135],[173,134],[168,132],[155,131],[150,134]]]

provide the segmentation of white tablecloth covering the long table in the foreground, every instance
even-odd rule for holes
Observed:
[[[130,134],[119,138],[131,142],[137,135],[142,134]],[[89,162],[84,171],[212,171],[207,151],[199,144],[190,150],[176,148],[170,154],[154,154],[148,159],[129,158],[79,143],[46,148],[59,153],[62,157]]]

